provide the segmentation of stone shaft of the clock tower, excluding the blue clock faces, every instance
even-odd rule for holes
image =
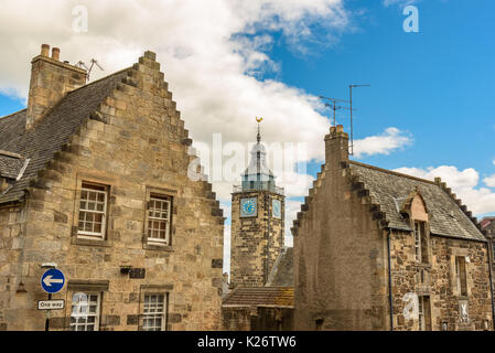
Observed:
[[[240,217],[240,199],[257,197],[256,217]],[[281,201],[281,218],[271,215],[271,200]],[[268,192],[241,192],[233,194],[230,284],[233,287],[261,287],[283,247],[283,196]]]

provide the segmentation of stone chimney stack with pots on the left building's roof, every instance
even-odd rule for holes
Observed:
[[[64,96],[86,84],[87,72],[60,61],[61,50],[41,46],[41,54],[31,61],[31,82],[25,128],[32,128]]]

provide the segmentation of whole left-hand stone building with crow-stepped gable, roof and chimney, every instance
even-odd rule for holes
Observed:
[[[44,264],[66,279],[50,330],[219,329],[223,212],[155,54],[87,84],[49,51],[0,118],[0,329],[45,329]]]

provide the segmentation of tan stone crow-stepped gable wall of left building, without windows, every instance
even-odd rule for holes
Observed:
[[[168,330],[220,327],[224,217],[212,185],[187,176],[187,130],[159,67],[147,52],[103,101],[99,115],[107,124],[87,120],[32,183],[22,270],[10,270],[11,286],[1,277],[3,328],[44,329],[45,313],[34,309],[36,300],[46,299],[42,263],[56,263],[67,280],[53,296],[66,302],[65,310],[51,313],[53,330],[68,329],[72,296],[78,291],[101,293],[101,330],[138,330],[143,296],[154,292],[168,293]],[[83,181],[108,188],[105,240],[77,236]],[[173,200],[168,246],[147,243],[150,190]],[[1,222],[2,234],[12,232],[12,222]],[[12,244],[3,236],[1,274],[19,253]]]

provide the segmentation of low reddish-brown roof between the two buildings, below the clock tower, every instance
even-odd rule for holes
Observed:
[[[223,307],[293,307],[293,287],[236,288],[224,299]]]

